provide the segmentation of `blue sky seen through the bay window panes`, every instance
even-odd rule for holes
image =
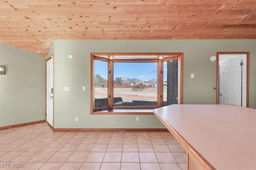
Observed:
[[[166,62],[164,62],[165,72]],[[95,74],[107,79],[108,63],[95,60]],[[157,63],[114,63],[114,79],[116,77],[137,78],[143,81],[157,79]]]

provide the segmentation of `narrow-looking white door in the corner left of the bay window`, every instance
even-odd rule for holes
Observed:
[[[46,62],[46,121],[53,126],[53,58]]]

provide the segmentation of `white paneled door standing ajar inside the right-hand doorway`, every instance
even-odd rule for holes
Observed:
[[[220,61],[220,104],[241,106],[242,67],[241,57]]]

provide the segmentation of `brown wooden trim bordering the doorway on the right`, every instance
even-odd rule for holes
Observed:
[[[246,107],[249,107],[249,52],[217,52],[216,55],[216,104],[219,102],[219,55],[222,54],[245,54],[246,55]]]

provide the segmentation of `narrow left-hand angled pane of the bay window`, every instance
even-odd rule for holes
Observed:
[[[94,61],[95,108],[108,106],[108,62]]]

